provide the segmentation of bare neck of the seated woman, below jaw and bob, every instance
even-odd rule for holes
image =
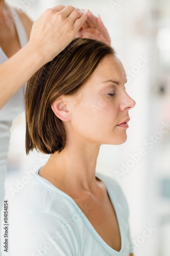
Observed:
[[[100,146],[66,144],[61,153],[53,154],[42,168],[60,184],[76,190],[92,191],[96,186],[95,167]]]

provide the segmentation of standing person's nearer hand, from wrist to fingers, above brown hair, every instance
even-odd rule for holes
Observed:
[[[87,19],[87,13],[72,6],[47,9],[33,24],[28,47],[42,57],[52,60],[75,37]]]

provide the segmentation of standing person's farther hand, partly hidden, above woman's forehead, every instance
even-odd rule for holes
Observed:
[[[95,17],[90,11],[88,11],[88,18],[80,28],[77,37],[96,39],[105,42],[107,45],[111,44],[109,34],[103,25],[101,17]]]

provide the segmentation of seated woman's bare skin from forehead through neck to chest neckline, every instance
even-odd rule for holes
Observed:
[[[39,172],[75,200],[101,238],[116,251],[121,248],[119,227],[106,186],[95,178],[95,167],[101,144],[122,144],[127,139],[127,127],[120,124],[129,118],[135,101],[127,94],[125,83],[122,63],[109,55],[80,92],[62,95],[52,104],[65,124],[66,146],[51,155]],[[103,102],[102,108],[95,111],[93,106],[99,102]]]

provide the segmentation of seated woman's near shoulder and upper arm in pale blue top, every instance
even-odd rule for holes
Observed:
[[[75,255],[80,222],[74,216],[74,208],[55,189],[32,179],[10,206],[10,255]]]

